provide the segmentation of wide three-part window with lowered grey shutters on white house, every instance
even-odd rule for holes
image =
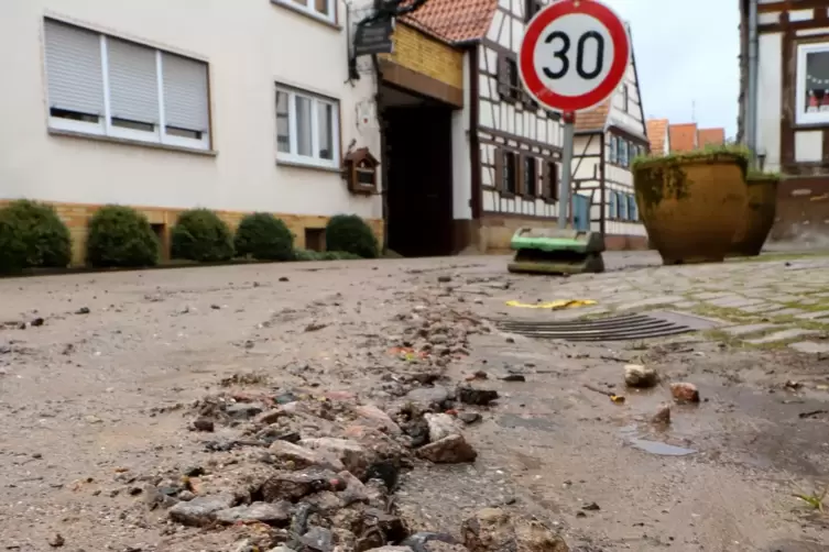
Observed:
[[[45,20],[48,125],[210,148],[204,62]]]

